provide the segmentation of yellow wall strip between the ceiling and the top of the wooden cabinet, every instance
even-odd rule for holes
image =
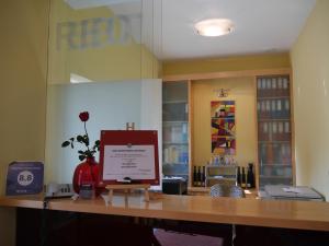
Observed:
[[[163,75],[290,68],[288,54],[163,61]]]

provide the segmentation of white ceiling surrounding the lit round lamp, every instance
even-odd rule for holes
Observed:
[[[150,38],[147,38],[148,42],[141,42],[161,60],[290,50],[316,2],[316,0],[65,1],[77,10],[107,5],[114,13],[117,12],[116,14],[123,14],[125,12],[123,8],[126,8],[126,14],[133,15],[134,22],[138,22],[136,12],[139,12],[140,17],[143,9],[150,2],[155,2],[151,24],[154,31],[150,33],[154,35],[152,44],[149,42]],[[220,37],[197,35],[193,25],[197,21],[213,17],[230,19],[235,23],[235,31]],[[143,36],[144,31],[138,30],[137,32],[141,32]]]

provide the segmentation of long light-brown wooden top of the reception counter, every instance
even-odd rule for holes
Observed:
[[[1,197],[0,206],[42,209],[43,200],[41,197]],[[48,209],[329,232],[329,203],[315,201],[152,195],[150,202],[145,202],[143,195],[125,198],[118,194],[107,207],[102,198],[54,199],[48,202]]]

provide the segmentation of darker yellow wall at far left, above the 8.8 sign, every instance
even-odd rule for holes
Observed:
[[[45,0],[0,8],[0,195],[14,160],[44,160],[47,10]],[[14,216],[0,210],[0,245],[13,245]],[[5,214],[4,214],[5,213]]]

